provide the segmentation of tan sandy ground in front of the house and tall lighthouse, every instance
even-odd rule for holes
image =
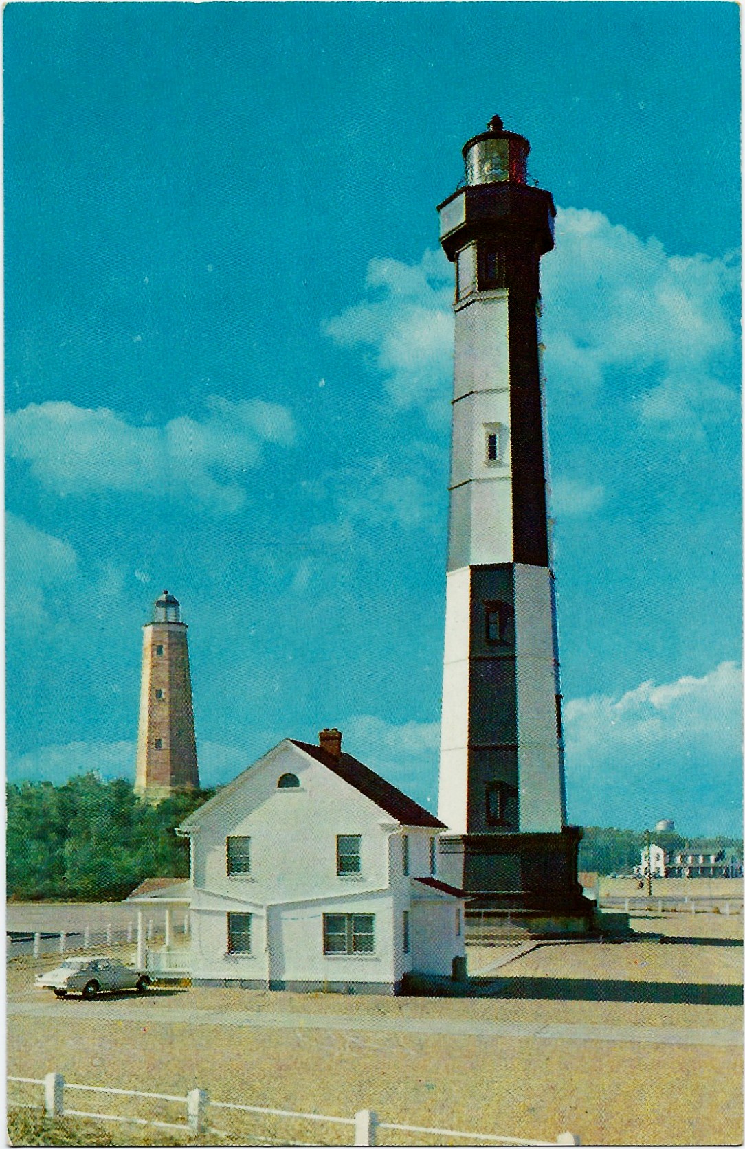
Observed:
[[[673,923],[665,918],[636,923],[647,933],[667,932],[662,943],[642,938],[540,946],[501,966],[498,978],[504,987],[492,997],[161,990],[147,998],[121,997],[118,1004],[132,1003],[131,1020],[125,1011],[108,1021],[102,1011],[97,1018],[102,1000],[80,1003],[74,1017],[66,1009],[59,1020],[53,1015],[10,1017],[8,1073],[43,1077],[59,1070],[72,1082],[177,1095],[202,1086],[216,1101],[339,1117],[373,1108],[383,1121],[502,1136],[554,1140],[570,1129],[583,1144],[737,1144],[742,1058],[732,1046],[420,1034],[404,1027],[389,1033],[345,1032],[307,1024],[308,1016],[317,1012],[358,1023],[381,1017],[478,1018],[737,1032],[740,920],[714,915],[676,915]],[[473,950],[471,972],[484,971],[508,954],[501,947]],[[30,959],[10,963],[11,1003],[39,1000],[31,987],[33,965]],[[135,1019],[135,1009],[141,1012],[145,1002],[153,1003],[153,1019]],[[169,1008],[175,1016],[184,1005],[198,1011],[297,1012],[299,1024],[297,1030],[252,1028],[166,1019]],[[23,1088],[31,1090],[24,1095],[30,1098],[32,1088]],[[140,1102],[102,1102],[95,1094],[79,1094],[75,1104],[153,1115],[152,1108],[138,1110]],[[183,1106],[162,1104],[162,1119],[183,1120]],[[226,1111],[214,1109],[212,1120],[240,1136]],[[314,1144],[352,1141],[348,1126],[255,1117],[240,1123],[245,1138],[258,1132]],[[406,1138],[383,1129],[378,1134],[381,1143],[427,1143],[421,1135]]]

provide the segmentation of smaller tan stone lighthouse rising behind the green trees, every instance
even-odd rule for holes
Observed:
[[[199,789],[186,624],[168,591],[143,627],[143,676],[136,792],[159,802],[174,791]]]

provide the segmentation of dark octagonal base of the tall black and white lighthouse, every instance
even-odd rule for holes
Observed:
[[[582,830],[559,833],[443,834],[440,877],[466,892],[466,936],[593,933],[594,903],[577,881]]]

